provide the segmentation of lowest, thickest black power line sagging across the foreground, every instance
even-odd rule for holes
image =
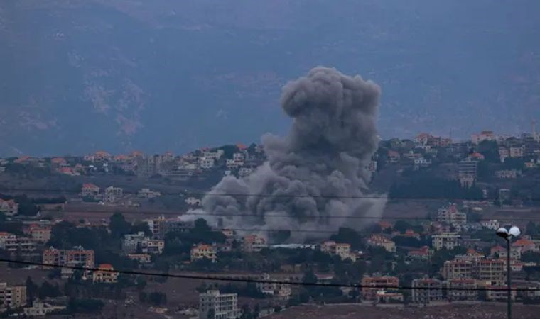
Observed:
[[[362,284],[326,284],[326,283],[311,283],[311,282],[299,282],[299,281],[274,281],[274,280],[264,280],[264,279],[238,279],[225,276],[200,276],[200,275],[190,275],[190,274],[164,274],[158,272],[136,272],[132,270],[111,270],[111,269],[99,269],[91,267],[77,267],[71,265],[58,265],[58,264],[45,264],[43,262],[27,262],[23,260],[16,259],[5,259],[0,258],[0,262],[8,262],[13,264],[26,264],[27,266],[40,266],[40,267],[55,267],[55,268],[66,268],[73,270],[82,270],[85,272],[115,272],[119,274],[130,274],[130,275],[139,275],[139,276],[160,276],[168,278],[180,278],[180,279],[198,279],[198,280],[210,280],[210,281],[232,281],[232,282],[242,282],[242,283],[253,283],[253,284],[284,284],[291,286],[323,286],[323,287],[335,287],[335,288],[368,288],[368,289],[419,289],[419,290],[446,290],[446,291],[500,291],[504,289],[493,289],[493,288],[455,288],[455,287],[413,287],[413,286],[387,286],[387,285],[362,285]],[[540,291],[540,288],[514,288],[512,291]]]

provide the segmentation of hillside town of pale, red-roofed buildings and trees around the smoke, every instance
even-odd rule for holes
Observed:
[[[509,225],[522,229],[509,256],[519,288],[512,300],[540,303],[534,123],[519,136],[381,140],[365,169],[374,194],[385,194],[388,214],[362,229],[345,224],[291,242],[294,230],[224,228],[197,216],[212,185],[249,177],[265,159],[256,144],[185,155],[0,159],[0,257],[31,263],[0,264],[0,311],[261,318],[310,303],[497,303],[507,298],[507,249],[495,231]],[[410,211],[415,200],[426,203]],[[251,281],[180,284],[123,273],[134,270]]]

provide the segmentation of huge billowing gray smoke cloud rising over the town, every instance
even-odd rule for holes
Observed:
[[[379,142],[380,92],[372,81],[328,67],[286,84],[281,106],[293,119],[290,132],[264,135],[267,162],[248,177],[224,177],[202,199],[204,211],[219,215],[215,221],[224,227],[291,230],[291,241],[329,235],[294,230],[362,228],[376,221],[331,216],[376,218],[384,208],[382,200],[358,198],[367,190],[366,167]]]

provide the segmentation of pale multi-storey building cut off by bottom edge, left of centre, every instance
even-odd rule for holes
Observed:
[[[209,290],[199,294],[200,319],[236,319],[240,318],[236,293],[220,293]]]

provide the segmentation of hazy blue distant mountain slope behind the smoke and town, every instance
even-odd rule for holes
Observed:
[[[1,1],[0,157],[284,133],[281,86],[315,65],[382,86],[385,137],[528,130],[539,13],[535,0]]]

